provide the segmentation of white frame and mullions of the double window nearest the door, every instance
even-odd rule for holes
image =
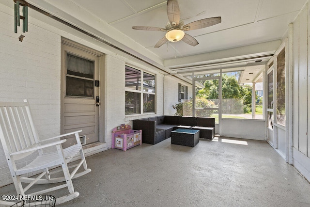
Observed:
[[[125,80],[125,92],[132,92],[132,93],[138,93],[140,94],[140,112],[139,113],[130,113],[130,114],[126,114],[126,111],[125,111],[125,116],[134,116],[134,115],[142,115],[142,114],[152,114],[152,113],[156,113],[156,75],[153,74],[153,73],[150,73],[148,71],[144,71],[142,69],[138,69],[137,67],[134,67],[134,66],[131,66],[131,65],[128,65],[126,64],[125,65],[125,70],[126,69],[134,69],[134,70],[138,70],[140,71],[140,90],[135,90],[135,89],[129,89],[129,88],[126,88],[126,80]],[[148,92],[148,91],[144,91],[144,73],[148,74],[148,75],[151,75],[151,76],[154,76],[154,81],[155,81],[155,86],[154,86],[154,91],[155,92]],[[126,79],[126,75],[125,75],[125,79]],[[143,107],[143,104],[144,104],[144,100],[143,100],[143,97],[144,95],[147,95],[147,94],[150,94],[150,95],[154,95],[154,99],[153,99],[153,105],[154,105],[154,111],[150,111],[150,112],[144,112],[144,107]],[[125,101],[125,104],[126,104],[126,101]],[[126,107],[126,106],[125,106]]]

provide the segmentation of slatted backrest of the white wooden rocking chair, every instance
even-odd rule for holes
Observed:
[[[0,103],[0,139],[9,154],[38,143],[28,103],[10,104]]]

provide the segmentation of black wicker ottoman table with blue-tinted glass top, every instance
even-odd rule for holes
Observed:
[[[171,131],[171,144],[194,147],[199,143],[199,130],[178,128]]]

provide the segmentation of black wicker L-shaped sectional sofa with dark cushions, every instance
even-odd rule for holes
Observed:
[[[169,137],[177,128],[197,129],[200,138],[213,139],[215,118],[188,116],[156,116],[132,121],[133,129],[142,129],[142,143],[156,144]]]

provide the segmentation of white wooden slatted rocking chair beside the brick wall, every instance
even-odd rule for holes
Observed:
[[[74,191],[72,179],[91,172],[91,169],[87,168],[85,156],[83,154],[82,145],[78,135],[81,131],[82,130],[79,130],[40,141],[31,119],[31,112],[27,100],[24,100],[24,102],[0,102],[0,140],[17,194],[41,195],[49,191],[56,191],[67,187],[69,194],[56,198],[56,204],[61,204],[78,197],[79,193]],[[62,143],[66,140],[60,140],[60,138],[68,135],[75,135],[77,144],[63,149]],[[46,143],[48,141],[53,142]],[[43,149],[47,147],[48,152],[44,153]],[[68,167],[67,164],[69,161],[78,153],[80,155],[80,161],[78,164]],[[26,166],[19,167],[20,164],[17,164],[16,161],[30,155],[36,155],[37,157],[30,163],[27,163]],[[56,172],[49,171],[50,168],[60,165],[62,168],[61,170]],[[81,165],[83,165],[84,169],[83,171],[78,172]],[[74,169],[70,174],[69,168],[71,167]],[[61,175],[62,177],[52,178],[51,175],[61,171],[63,171],[63,175]],[[36,178],[29,177],[34,174],[39,175]],[[29,184],[26,187],[23,187],[21,184],[22,182]],[[65,183],[42,191],[25,194],[25,192],[28,191],[34,184],[49,184],[58,182]],[[6,202],[6,204],[8,204],[8,202]]]

